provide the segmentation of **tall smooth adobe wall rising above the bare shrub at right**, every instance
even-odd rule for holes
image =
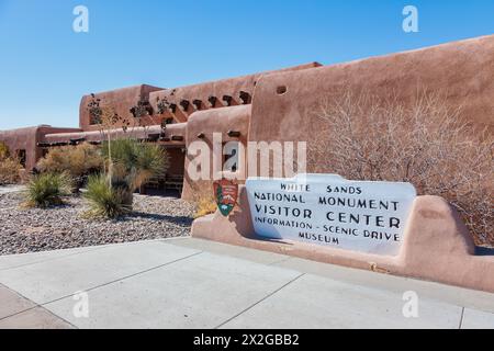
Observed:
[[[279,94],[280,87],[287,92]],[[409,102],[417,90],[440,92],[478,129],[494,131],[494,35],[430,48],[262,77],[249,140],[311,140],[311,114],[335,92],[367,91]]]

